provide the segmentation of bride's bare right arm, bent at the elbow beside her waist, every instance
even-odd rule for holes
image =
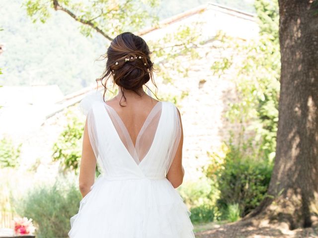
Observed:
[[[180,142],[179,142],[177,151],[175,153],[174,159],[166,175],[166,178],[171,182],[174,188],[177,188],[178,186],[182,184],[183,177],[184,177],[184,169],[182,166],[183,128],[182,128],[180,112],[178,109],[177,111],[178,111],[178,115],[180,119],[181,137],[180,137]]]

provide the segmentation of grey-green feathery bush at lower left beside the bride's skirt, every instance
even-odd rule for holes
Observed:
[[[37,238],[66,238],[71,229],[70,218],[78,212],[80,199],[76,184],[58,180],[31,189],[14,204],[20,216],[33,219]]]

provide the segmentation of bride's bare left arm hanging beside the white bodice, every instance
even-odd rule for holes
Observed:
[[[96,158],[89,141],[88,130],[87,130],[87,118],[86,118],[84,132],[83,132],[83,144],[82,144],[81,160],[80,160],[80,167],[79,167],[79,190],[82,197],[84,197],[90,191],[90,187],[94,183],[95,168],[96,168]]]

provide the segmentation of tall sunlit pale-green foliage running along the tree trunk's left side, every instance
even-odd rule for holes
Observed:
[[[217,39],[233,55],[217,60],[211,69],[221,75],[228,69],[234,70],[239,101],[230,103],[226,116],[233,123],[240,123],[245,138],[253,134],[257,154],[266,161],[275,157],[276,133],[278,123],[278,97],[280,78],[280,51],[278,42],[278,3],[276,1],[256,0],[260,36],[247,42],[228,37],[222,32]],[[241,60],[233,62],[234,55]],[[238,138],[241,140],[241,138]],[[256,152],[255,152],[256,153]]]

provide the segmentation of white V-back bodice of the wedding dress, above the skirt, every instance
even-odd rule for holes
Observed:
[[[181,134],[174,104],[161,101],[154,106],[137,137],[136,147],[123,122],[100,93],[86,96],[79,106],[87,115],[89,140],[105,177],[162,179],[166,176]],[[141,154],[142,158],[138,158]]]

